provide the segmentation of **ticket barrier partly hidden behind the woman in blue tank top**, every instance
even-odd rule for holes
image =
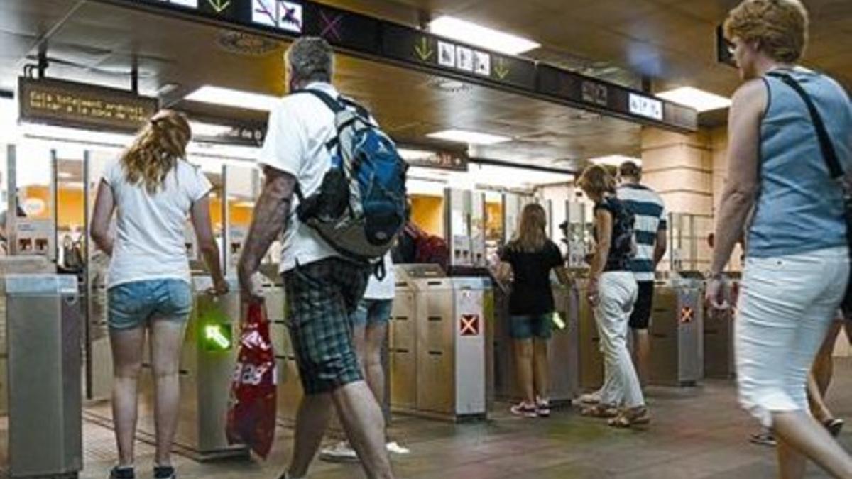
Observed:
[[[705,377],[731,379],[736,376],[734,364],[734,291],[736,282],[726,284],[725,297],[729,309],[708,308],[704,321],[704,372]]]

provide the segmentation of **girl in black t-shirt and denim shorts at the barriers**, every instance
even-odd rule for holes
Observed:
[[[511,407],[518,416],[535,418],[550,415],[547,343],[554,313],[550,270],[567,282],[559,246],[544,232],[547,216],[541,205],[527,205],[515,238],[500,254],[499,275],[514,275],[509,296],[509,336],[513,339],[515,367],[523,400]]]

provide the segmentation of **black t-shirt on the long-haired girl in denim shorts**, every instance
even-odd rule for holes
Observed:
[[[509,243],[500,253],[500,260],[512,265],[515,282],[509,296],[509,314],[546,315],[554,311],[550,270],[561,266],[559,246],[547,240],[541,251],[526,252]]]

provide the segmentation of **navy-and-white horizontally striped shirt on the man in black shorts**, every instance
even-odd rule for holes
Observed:
[[[636,256],[630,269],[636,281],[653,281],[657,232],[666,228],[665,203],[651,188],[636,183],[620,186],[618,194],[636,216]]]

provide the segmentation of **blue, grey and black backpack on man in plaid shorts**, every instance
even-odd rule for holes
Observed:
[[[319,98],[335,113],[337,126],[337,137],[325,144],[331,170],[310,196],[296,188],[296,215],[343,257],[383,264],[408,219],[408,164],[394,141],[372,123],[370,113],[354,101],[314,89],[294,93]]]

